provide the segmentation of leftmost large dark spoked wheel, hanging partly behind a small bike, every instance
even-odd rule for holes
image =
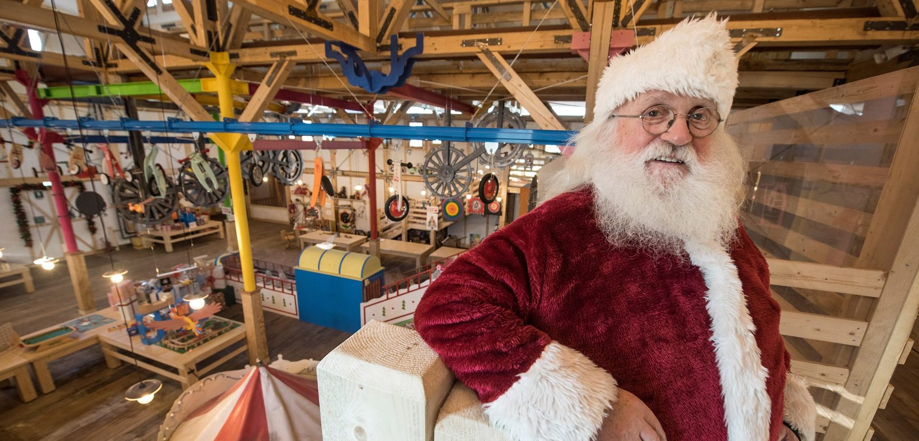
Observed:
[[[125,175],[133,175],[131,182],[127,179],[116,179],[112,186],[112,200],[118,210],[119,216],[134,223],[152,225],[170,219],[178,205],[175,191],[167,191],[165,198],[153,198],[144,206],[143,212],[133,211],[128,204],[140,204],[152,195],[146,183],[143,182],[140,170],[126,171]],[[166,178],[169,182],[169,178]]]

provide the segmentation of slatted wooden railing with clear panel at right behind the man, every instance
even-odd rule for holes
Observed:
[[[862,441],[913,345],[919,67],[732,112],[743,224],[769,259],[824,440]]]

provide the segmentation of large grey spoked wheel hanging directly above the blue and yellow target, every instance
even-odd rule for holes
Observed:
[[[472,182],[472,164],[466,155],[449,145],[432,150],[425,157],[422,177],[425,186],[439,198],[458,198]]]

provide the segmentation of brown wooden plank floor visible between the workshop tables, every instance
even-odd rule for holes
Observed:
[[[300,251],[284,248],[279,234],[284,227],[268,222],[251,223],[256,258],[296,265]],[[162,245],[156,245],[155,253],[150,249],[134,250],[129,245],[114,252],[112,257],[115,266],[130,271],[128,277],[152,277],[156,266],[164,269],[187,263],[191,256],[213,257],[225,250],[226,242],[212,235],[200,238],[193,245],[178,243],[173,253],[165,253]],[[32,268],[36,288],[32,294],[27,294],[22,285],[0,288],[0,323],[12,322],[17,333],[28,334],[77,317],[70,278],[62,264],[63,261],[50,272]],[[384,257],[383,265],[387,279],[391,280],[412,269],[414,260]],[[96,307],[108,307],[105,292],[109,283],[101,277],[110,268],[108,255],[86,256],[86,266],[96,292]],[[220,315],[243,322],[240,305]],[[265,313],[265,323],[273,358],[282,354],[289,360],[319,359],[348,336],[271,312]],[[246,356],[240,355],[217,370],[243,368],[246,363]],[[23,403],[8,381],[0,384],[0,440],[154,440],[165,413],[181,393],[178,382],[137,370],[127,363],[115,369],[106,368],[97,345],[54,361],[50,368],[57,390],[39,395],[35,401]],[[156,394],[155,400],[147,405],[125,401],[124,391],[139,379],[148,378],[163,381],[163,390]]]

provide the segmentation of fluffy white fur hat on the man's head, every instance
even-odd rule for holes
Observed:
[[[607,119],[649,90],[712,99],[721,119],[727,118],[737,90],[737,59],[725,21],[714,13],[686,18],[657,40],[613,58],[596,87],[594,119]]]

